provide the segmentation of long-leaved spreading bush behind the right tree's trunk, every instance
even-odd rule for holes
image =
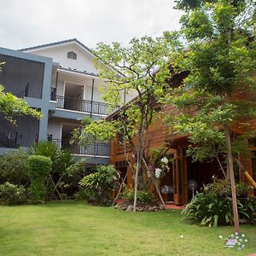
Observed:
[[[239,218],[255,221],[255,200],[237,200],[237,208]],[[211,227],[232,224],[232,212],[229,184],[224,180],[215,180],[195,195],[182,214],[193,223]]]

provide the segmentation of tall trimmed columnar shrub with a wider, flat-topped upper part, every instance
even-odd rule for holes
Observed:
[[[43,155],[31,155],[28,158],[29,172],[32,177],[30,187],[30,195],[32,203],[39,203],[44,201],[46,193],[45,181],[49,176],[52,165],[49,157]]]

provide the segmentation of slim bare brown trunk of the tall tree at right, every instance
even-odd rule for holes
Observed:
[[[227,173],[230,173],[235,232],[239,233],[239,218],[238,218],[237,203],[236,203],[235,173],[234,173],[233,156],[232,156],[231,142],[230,142],[230,131],[229,131],[228,125],[224,125],[224,134],[225,134],[225,140],[226,140],[226,146],[227,146],[227,157],[228,157]]]

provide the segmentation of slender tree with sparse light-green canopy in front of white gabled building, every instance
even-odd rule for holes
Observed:
[[[168,34],[175,41],[176,34]],[[76,136],[82,144],[91,140],[102,139],[119,134],[119,143],[125,148],[126,159],[134,173],[134,206],[137,206],[137,188],[143,181],[143,172],[147,171],[148,126],[155,115],[155,96],[165,90],[170,74],[167,57],[172,50],[172,40],[165,37],[141,39],[134,38],[128,47],[118,43],[112,45],[98,44],[96,48],[96,67],[100,78],[108,83],[104,99],[117,109],[110,121],[84,121],[82,132]],[[135,93],[137,97],[120,108],[120,93]],[[137,140],[134,140],[134,137]],[[129,153],[131,152],[131,154]]]

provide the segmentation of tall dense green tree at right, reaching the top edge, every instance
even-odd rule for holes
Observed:
[[[239,232],[234,160],[247,137],[232,126],[245,128],[245,117],[255,115],[255,2],[178,0],[177,9],[185,11],[181,35],[186,40],[172,54],[172,67],[189,71],[189,76],[166,101],[178,109],[169,124],[172,131],[189,135],[188,153],[195,160],[224,156]],[[249,91],[247,99],[235,97],[242,91]]]

